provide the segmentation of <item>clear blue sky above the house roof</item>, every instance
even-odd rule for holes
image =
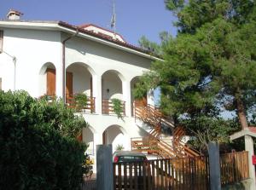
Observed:
[[[108,29],[113,0],[1,0],[0,18],[9,9],[22,12],[23,20],[62,20],[73,25],[93,23]],[[176,35],[174,17],[166,10],[164,0],[116,0],[117,32],[131,44],[143,35],[159,42],[162,31]]]

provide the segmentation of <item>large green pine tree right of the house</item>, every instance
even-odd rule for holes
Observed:
[[[209,129],[207,141],[223,141],[237,127],[220,118],[221,110],[236,112],[242,128],[255,112],[255,1],[165,2],[177,15],[179,32],[164,37],[163,61],[154,61],[135,92],[160,87],[160,108],[176,124],[196,127],[200,133],[195,135]]]

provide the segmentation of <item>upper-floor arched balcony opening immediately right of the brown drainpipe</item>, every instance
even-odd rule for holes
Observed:
[[[84,112],[95,112],[91,71],[89,66],[80,62],[73,63],[66,69],[66,102],[72,105],[74,95],[85,94],[87,103],[84,105]]]

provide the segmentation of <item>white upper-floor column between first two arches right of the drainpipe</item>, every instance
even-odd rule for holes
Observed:
[[[102,114],[102,78],[101,76],[92,76],[92,94],[96,98],[96,113]]]

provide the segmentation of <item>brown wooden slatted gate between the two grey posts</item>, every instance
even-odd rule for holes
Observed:
[[[175,158],[113,164],[113,185],[116,189],[153,190],[172,187],[206,190],[208,172],[206,164],[201,164],[202,161],[201,158]]]

